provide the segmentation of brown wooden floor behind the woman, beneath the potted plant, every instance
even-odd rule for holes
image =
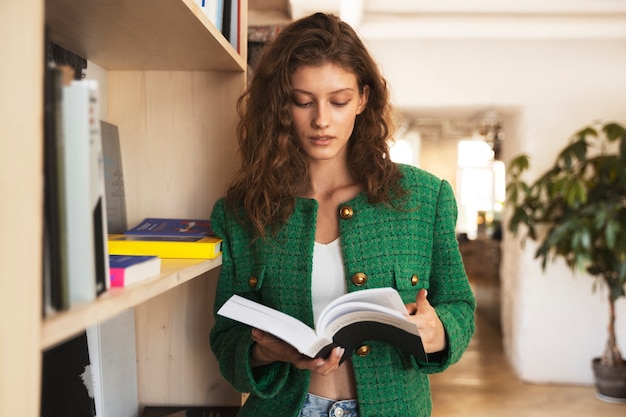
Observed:
[[[626,404],[597,399],[593,386],[520,381],[502,351],[498,288],[477,281],[477,331],[461,360],[431,377],[432,417],[626,416]]]

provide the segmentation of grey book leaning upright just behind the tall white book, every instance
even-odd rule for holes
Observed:
[[[123,233],[128,225],[119,129],[116,125],[101,120],[100,131],[102,132],[107,231]]]

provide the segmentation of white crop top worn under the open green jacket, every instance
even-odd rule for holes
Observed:
[[[328,303],[348,292],[345,276],[339,238],[326,245],[315,242],[311,276],[315,321]]]

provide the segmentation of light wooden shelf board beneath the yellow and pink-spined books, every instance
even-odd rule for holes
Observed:
[[[163,294],[222,264],[216,259],[163,259],[161,275],[127,288],[113,288],[95,301],[57,313],[43,321],[41,349],[48,349],[89,326]]]

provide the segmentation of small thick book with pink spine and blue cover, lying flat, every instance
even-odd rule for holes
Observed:
[[[111,287],[127,287],[161,273],[158,256],[109,255]]]

